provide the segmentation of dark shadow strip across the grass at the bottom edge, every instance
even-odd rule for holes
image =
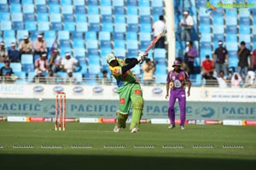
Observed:
[[[0,154],[1,169],[244,169],[255,160],[177,158],[160,156],[84,156]]]

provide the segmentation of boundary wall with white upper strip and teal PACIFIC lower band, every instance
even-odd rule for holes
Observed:
[[[67,94],[67,117],[115,118],[115,86],[1,84],[0,116],[55,116],[55,94]],[[166,86],[143,87],[144,119],[167,118]],[[255,88],[191,88],[187,120],[256,120]],[[178,105],[175,107],[179,118]]]

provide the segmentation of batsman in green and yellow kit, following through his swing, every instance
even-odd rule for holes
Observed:
[[[113,132],[119,133],[121,128],[125,128],[128,113],[132,105],[131,133],[137,133],[140,127],[140,120],[143,116],[143,92],[136,77],[131,72],[131,68],[137,64],[142,64],[147,58],[147,54],[140,53],[136,58],[118,59],[114,54],[107,54],[106,59],[109,69],[116,79],[119,94],[119,111],[117,111],[118,122],[113,128]]]

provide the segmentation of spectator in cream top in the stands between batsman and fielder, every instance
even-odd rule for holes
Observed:
[[[146,59],[146,63],[143,65],[143,82],[145,86],[154,84],[154,71],[155,62],[151,59]]]

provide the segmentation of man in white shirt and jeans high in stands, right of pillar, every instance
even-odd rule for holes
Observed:
[[[185,42],[191,41],[191,30],[194,26],[192,16],[189,15],[189,11],[183,12],[183,19],[180,21],[179,26],[182,26],[181,39]]]

